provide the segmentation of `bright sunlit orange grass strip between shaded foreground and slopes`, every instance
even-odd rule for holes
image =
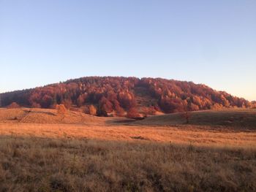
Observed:
[[[193,145],[256,146],[255,131],[233,131],[206,126],[94,126],[70,124],[0,123],[0,135],[49,138],[173,142]]]

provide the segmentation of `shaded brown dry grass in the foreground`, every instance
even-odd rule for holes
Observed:
[[[1,191],[255,191],[256,150],[0,138]]]

